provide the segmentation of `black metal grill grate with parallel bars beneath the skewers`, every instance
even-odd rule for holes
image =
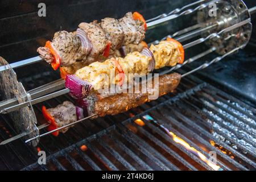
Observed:
[[[43,104],[47,107],[56,106],[67,99],[71,100],[67,95],[61,96]],[[43,121],[41,106],[38,104],[34,107],[39,122]],[[35,148],[26,146],[20,142],[21,140],[7,144],[6,148],[0,148],[0,153],[3,154],[0,155],[1,168],[213,169],[195,152],[176,143],[165,130],[168,129],[207,158],[209,151],[215,151],[220,169],[255,169],[255,113],[254,106],[222,92],[195,76],[189,76],[181,81],[177,93],[167,94],[127,113],[80,123],[60,137],[50,135],[42,138],[38,150],[46,151],[46,166],[37,163]],[[147,121],[143,118],[145,115],[150,115],[154,121]],[[138,118],[146,125],[135,124],[134,121]],[[8,119],[2,116],[1,126],[5,126],[6,131],[14,133],[10,123],[7,125],[7,121]],[[0,129],[3,130],[3,127]],[[0,137],[5,139],[9,135],[1,131]],[[86,151],[81,150],[81,146],[84,145],[87,147]],[[9,158],[14,161],[7,161]]]

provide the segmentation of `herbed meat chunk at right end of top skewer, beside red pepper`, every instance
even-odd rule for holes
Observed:
[[[141,20],[134,20],[131,12],[118,20],[125,34],[124,45],[139,44],[145,38],[144,23]]]

